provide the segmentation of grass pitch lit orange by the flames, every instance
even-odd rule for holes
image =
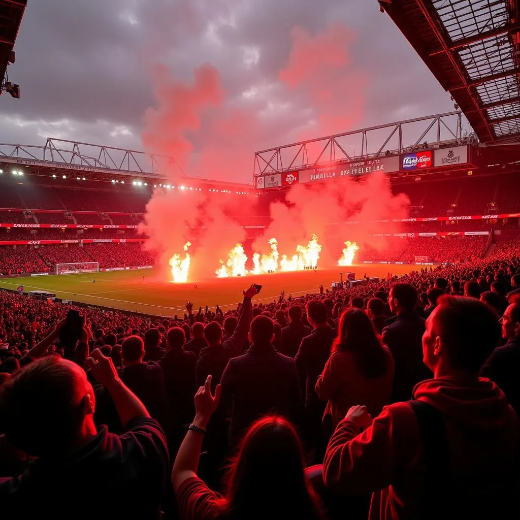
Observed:
[[[235,307],[242,301],[242,290],[251,283],[263,285],[262,292],[255,301],[267,303],[278,298],[281,290],[286,295],[291,293],[293,296],[318,292],[320,283],[324,287],[330,287],[332,281],[339,280],[339,273],[347,270],[355,272],[356,278],[361,278],[365,273],[371,277],[386,278],[388,270],[401,275],[411,269],[412,266],[405,265],[359,265],[319,269],[316,272],[215,278],[182,284],[164,281],[153,270],[111,271],[83,275],[4,278],[0,280],[0,287],[16,289],[21,284],[24,291],[49,291],[66,300],[159,316],[174,316],[184,313],[184,305],[188,300],[194,303],[195,308],[206,304],[210,307],[218,304],[224,310]],[[94,278],[96,283],[93,283]]]

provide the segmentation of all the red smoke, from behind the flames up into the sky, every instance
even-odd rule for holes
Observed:
[[[282,97],[261,98],[262,107],[258,100],[248,104],[227,99],[219,72],[209,64],[194,71],[192,84],[177,81],[167,68],[159,67],[157,108],[145,114],[145,149],[174,157],[192,177],[249,180],[255,149],[352,129],[362,119],[366,85],[365,74],[354,68],[349,53],[352,31],[336,24],[313,36],[295,28],[291,38],[287,66],[278,73]],[[297,108],[298,103],[304,108]],[[294,121],[289,133],[284,118]],[[164,173],[178,180],[175,173]],[[233,196],[211,195],[177,189],[154,192],[141,231],[150,236],[147,248],[157,251],[166,273],[170,257],[182,253],[189,240],[190,278],[214,277],[219,259],[226,259],[244,240],[244,230],[229,216]],[[251,198],[240,202],[251,204]],[[298,243],[306,245],[316,233],[324,245],[320,266],[336,265],[346,240],[378,245],[368,237],[377,230],[368,220],[406,216],[407,204],[406,197],[392,196],[382,175],[320,188],[297,185],[287,194],[287,203],[271,206],[271,225],[253,249],[268,252],[267,240],[275,237],[280,253],[290,256]],[[341,226],[348,219],[360,224]]]

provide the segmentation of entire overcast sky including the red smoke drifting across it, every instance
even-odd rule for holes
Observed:
[[[453,109],[375,0],[29,2],[15,50],[0,142],[146,149],[210,178],[249,181],[258,149]]]

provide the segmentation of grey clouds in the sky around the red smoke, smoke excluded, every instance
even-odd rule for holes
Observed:
[[[257,149],[283,144],[305,120],[307,109],[301,96],[276,85],[288,61],[291,29],[300,25],[314,34],[338,21],[356,31],[353,70],[368,79],[360,126],[390,122],[401,114],[451,110],[449,96],[375,2],[47,0],[30,3],[25,11],[15,46],[17,63],[9,68],[22,98],[0,99],[0,140],[41,144],[39,134],[48,131],[141,148],[142,116],[154,105],[153,65],[161,61],[183,81],[191,81],[194,68],[211,62],[222,75],[229,102],[239,107],[263,109],[265,99],[243,98],[242,93],[275,85],[269,97],[282,104],[291,101],[293,108],[273,116],[269,132],[258,134]],[[206,37],[210,22],[220,43]],[[250,68],[242,61],[248,47],[259,51],[258,63]],[[357,81],[355,74],[352,81]],[[62,119],[70,124],[49,124]],[[116,126],[126,126],[132,134],[111,135]]]

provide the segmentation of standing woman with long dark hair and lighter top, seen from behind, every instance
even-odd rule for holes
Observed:
[[[325,410],[335,427],[351,406],[363,405],[377,417],[389,404],[394,379],[392,354],[376,334],[367,314],[349,308],[340,325],[331,355],[316,382]]]

